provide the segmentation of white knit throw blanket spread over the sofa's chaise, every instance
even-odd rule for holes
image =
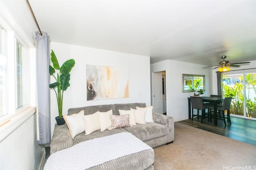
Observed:
[[[152,148],[131,133],[118,133],[55,152],[47,159],[44,170],[84,170],[147,149]]]

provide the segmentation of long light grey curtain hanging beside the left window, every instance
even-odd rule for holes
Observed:
[[[38,96],[38,144],[50,143],[50,104],[49,104],[49,36],[46,32],[36,32],[36,70]]]

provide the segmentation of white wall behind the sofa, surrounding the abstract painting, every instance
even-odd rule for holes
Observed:
[[[68,59],[76,64],[70,72],[70,87],[64,92],[63,115],[69,108],[99,104],[143,102],[150,106],[150,57],[52,42],[50,45],[62,65]],[[123,67],[129,70],[129,98],[87,101],[86,64]],[[54,79],[51,79],[53,82]],[[58,107],[54,90],[50,92],[51,129]]]

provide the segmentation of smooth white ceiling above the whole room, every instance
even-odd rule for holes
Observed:
[[[256,0],[29,0],[50,40],[216,65],[256,60]]]

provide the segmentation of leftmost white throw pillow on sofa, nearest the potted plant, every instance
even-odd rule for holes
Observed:
[[[84,110],[72,115],[63,115],[63,118],[68,125],[69,132],[73,139],[76,135],[85,131]]]

